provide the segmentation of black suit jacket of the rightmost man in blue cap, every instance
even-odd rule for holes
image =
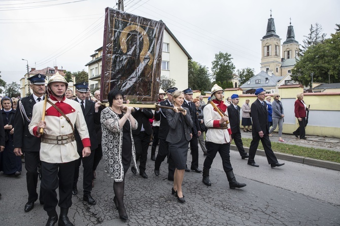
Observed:
[[[262,131],[263,134],[267,134],[269,132],[267,103],[265,101],[263,101],[263,103],[264,106],[258,99],[256,99],[250,107],[253,119],[253,134],[255,133],[258,135],[258,132],[260,131]]]

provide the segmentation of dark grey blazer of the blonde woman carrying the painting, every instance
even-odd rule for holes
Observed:
[[[183,107],[183,106],[182,106]],[[169,133],[167,134],[166,141],[170,143],[177,143],[182,139],[183,136],[183,124],[184,124],[184,135],[185,138],[189,141],[191,140],[191,127],[193,126],[193,122],[190,116],[190,111],[188,108],[183,107],[187,110],[187,114],[183,116],[184,122],[182,120],[182,113],[176,113],[172,109],[167,109],[166,119],[167,123],[169,124]],[[197,118],[197,117],[196,117]]]

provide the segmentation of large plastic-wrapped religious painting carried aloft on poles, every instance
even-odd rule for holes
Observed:
[[[130,100],[156,101],[164,23],[106,9],[100,95],[120,89]]]

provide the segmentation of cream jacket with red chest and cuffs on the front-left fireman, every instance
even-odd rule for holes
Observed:
[[[84,119],[83,111],[78,102],[63,98],[60,102],[53,96],[48,98],[70,119],[73,126],[77,126],[77,130],[82,139],[84,147],[91,146],[90,138]],[[43,115],[44,101],[40,101],[33,106],[32,120],[28,126],[29,132],[39,137],[40,133],[37,127]],[[51,104],[46,103],[45,115],[46,128],[44,133],[47,135],[66,135],[73,133],[71,125]],[[77,152],[76,140],[65,144],[50,144],[41,142],[40,160],[47,163],[67,163],[79,159]]]

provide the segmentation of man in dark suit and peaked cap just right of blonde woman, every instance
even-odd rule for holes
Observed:
[[[190,88],[183,90],[184,92],[184,102],[183,102],[183,107],[186,107],[190,110],[190,116],[192,119],[192,122],[194,123],[193,127],[191,128],[192,130],[192,139],[189,141],[190,142],[190,149],[191,149],[191,156],[192,156],[192,161],[191,161],[191,167],[190,169],[195,171],[196,173],[201,173],[202,171],[198,169],[198,137],[200,135],[200,126],[196,114],[196,106],[194,103],[192,103],[192,90]],[[188,168],[185,169],[185,171],[190,172]]]

